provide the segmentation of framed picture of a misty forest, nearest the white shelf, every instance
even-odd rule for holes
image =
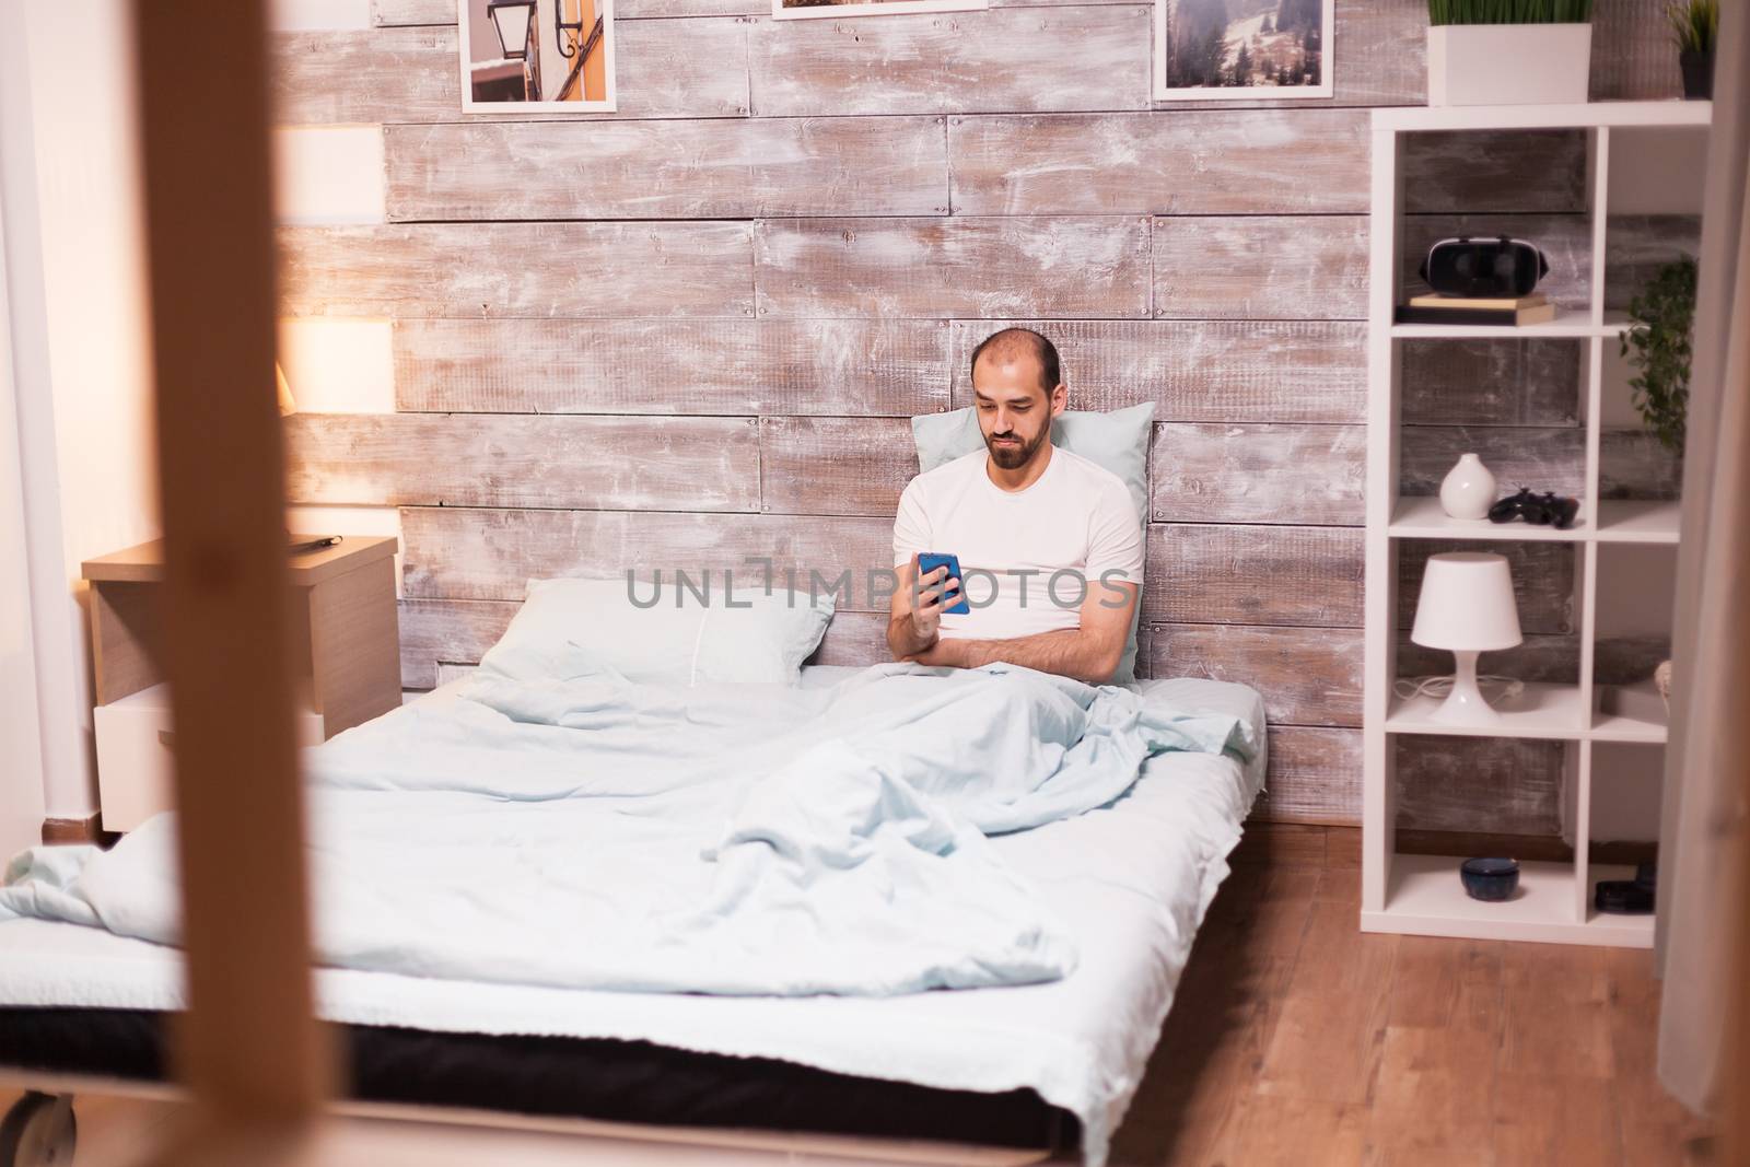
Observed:
[[[1155,100],[1328,98],[1335,0],[1155,0]]]

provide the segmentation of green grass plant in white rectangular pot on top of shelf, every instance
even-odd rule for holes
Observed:
[[[1428,105],[1586,101],[1592,0],[1428,0]]]

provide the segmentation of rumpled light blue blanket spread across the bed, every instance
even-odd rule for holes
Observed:
[[[1253,733],[1010,665],[824,689],[476,674],[306,754],[318,961],[709,994],[1055,980],[1074,943],[985,836]],[[173,831],[24,852],[0,915],[175,943]]]

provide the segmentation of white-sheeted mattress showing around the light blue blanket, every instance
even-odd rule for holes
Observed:
[[[803,684],[835,684],[852,672],[810,667]],[[1139,688],[1264,724],[1262,702],[1246,686],[1169,679]],[[1074,1115],[1088,1160],[1101,1162],[1227,875],[1225,856],[1262,787],[1264,763],[1158,754],[1106,807],[992,840],[1073,922],[1082,962],[1059,982],[886,999],[712,997],[318,969],[318,1011],[382,1031],[639,1045],[936,1092],[1031,1092]],[[0,1004],[175,1011],[184,1004],[178,954],[68,924],[7,920]],[[26,1013],[12,1018],[24,1024]]]

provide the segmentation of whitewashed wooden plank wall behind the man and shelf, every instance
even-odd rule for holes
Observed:
[[[1594,98],[1678,93],[1647,7],[1598,5]],[[383,126],[388,219],[284,229],[285,311],[390,318],[397,408],[294,416],[290,490],[402,507],[410,688],[478,660],[530,576],[886,565],[906,416],[968,404],[971,346],[1024,322],[1073,408],[1157,402],[1143,672],[1262,689],[1258,814],[1358,821],[1367,107],[1424,100],[1421,0],[1337,2],[1334,100],[1242,103],[1150,100],[1146,3],[774,23],[621,0],[621,110],[581,121],[464,121],[453,0],[374,19],[276,44],[284,122]],[[1577,135],[1432,136],[1409,166],[1412,247],[1531,233],[1558,299],[1586,296]],[[1687,220],[1612,226],[1614,304],[1694,247]],[[1407,360],[1410,490],[1463,450],[1577,490],[1577,346]],[[1612,493],[1675,492],[1656,448],[1610,441]],[[1508,549],[1512,667],[1572,672],[1572,551]],[[840,612],[819,660],[886,658],[882,626]],[[1409,744],[1400,770],[1407,826],[1558,829],[1559,747]]]

